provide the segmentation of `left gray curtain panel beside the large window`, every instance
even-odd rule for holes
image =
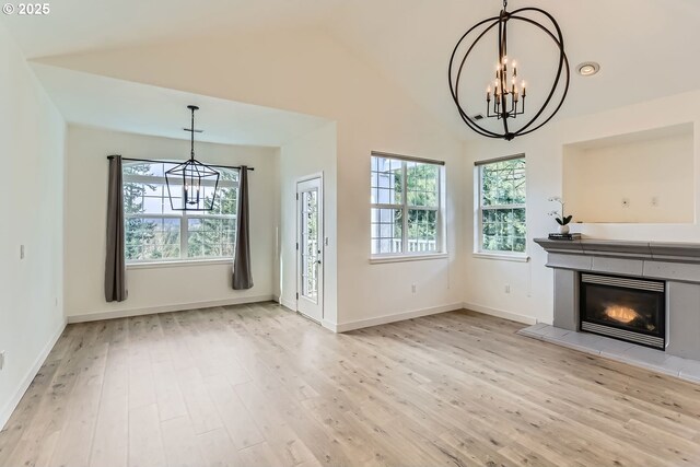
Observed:
[[[124,258],[124,190],[121,187],[121,156],[109,160],[107,191],[107,257],[105,259],[105,300],[127,300],[126,265]]]

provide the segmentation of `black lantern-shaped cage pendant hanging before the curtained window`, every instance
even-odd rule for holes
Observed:
[[[211,211],[219,187],[219,172],[195,159],[195,133],[201,132],[195,130],[195,110],[199,107],[188,105],[187,108],[191,110],[191,127],[184,128],[191,133],[189,160],[165,172],[167,196],[174,211]]]

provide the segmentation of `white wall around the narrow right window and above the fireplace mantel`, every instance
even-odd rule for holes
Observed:
[[[468,164],[465,177],[470,179],[472,162],[500,155],[524,152],[527,160],[527,227],[529,262],[475,258],[466,255],[466,299],[472,308],[510,314],[523,322],[552,320],[552,275],[545,267],[546,254],[533,242],[556,230],[557,224],[547,212],[558,205],[548,202],[562,194],[563,147],[619,135],[654,130],[675,125],[691,124],[697,135],[700,125],[700,91],[679,94],[605,113],[570,118],[549,124],[533,135],[511,142],[474,141],[467,147]],[[695,186],[700,186],[700,139],[692,142]],[[466,232],[474,229],[474,187],[467,188],[465,199]],[[592,187],[594,189],[595,187]],[[687,224],[574,224],[572,232],[596,238],[631,241],[698,242],[698,209],[700,195],[693,195],[693,223]],[[575,213],[574,213],[575,214]],[[474,248],[472,235],[467,235],[467,250]],[[511,285],[511,293],[504,285]]]

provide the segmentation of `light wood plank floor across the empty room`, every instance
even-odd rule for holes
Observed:
[[[334,335],[275,304],[70,325],[0,466],[700,466],[700,385],[518,327]]]

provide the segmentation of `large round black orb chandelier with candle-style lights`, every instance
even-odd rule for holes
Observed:
[[[551,14],[539,8],[521,8],[512,12],[508,12],[508,0],[503,0],[503,10],[498,16],[488,17],[477,24],[475,24],[469,31],[467,31],[462,38],[457,42],[452,56],[450,57],[450,68],[447,70],[450,79],[450,92],[452,98],[457,106],[459,116],[467,124],[467,126],[477,133],[487,138],[502,138],[508,141],[515,137],[532,133],[538,128],[546,125],[551,118],[559,112],[563,104],[567,93],[569,92],[569,59],[564,52],[564,42],[561,34],[561,30],[557,21]],[[533,17],[544,16],[542,22],[537,22]],[[517,75],[517,66],[515,61],[509,62],[508,56],[508,23],[509,21],[522,21],[525,24],[530,24],[541,30],[547,34],[549,38],[553,40],[559,49],[559,63],[557,68],[557,74],[549,91],[549,94],[544,101],[544,104],[535,112],[529,119],[526,119],[522,126],[515,128],[512,125],[518,115],[525,114],[525,97],[526,97],[526,83],[521,81]],[[547,23],[551,23],[545,25]],[[545,23],[545,24],[542,24]],[[495,118],[501,120],[503,125],[503,131],[497,132],[485,128],[477,121],[483,118],[480,113],[469,115],[471,107],[460,101],[459,87],[464,84],[463,71],[467,66],[467,59],[469,54],[474,50],[477,43],[481,40],[486,34],[498,26],[498,62],[495,67],[495,80],[493,81],[493,89],[491,85],[487,87],[486,92],[486,117]],[[469,46],[467,38],[471,38],[476,35],[476,38]],[[557,100],[552,101],[557,90],[561,89],[563,80],[563,91],[561,91],[561,97],[558,103]],[[555,105],[556,103],[556,105]],[[553,108],[553,110],[552,110]]]

